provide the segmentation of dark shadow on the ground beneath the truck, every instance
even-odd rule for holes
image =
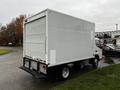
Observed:
[[[78,77],[84,73],[90,72],[92,70],[93,69],[91,66],[86,66],[83,69],[73,68],[71,77],[68,80],[76,78],[76,77]],[[26,82],[26,81],[25,81],[25,83],[22,82],[22,85],[25,87],[21,90],[38,90],[38,89],[50,90],[51,88],[54,88],[55,86],[68,81],[68,80],[61,81],[59,79],[47,79],[47,78],[46,79],[45,78],[36,79],[32,76],[28,77],[28,79],[24,77],[24,79],[26,79],[26,81],[28,81],[28,82]]]

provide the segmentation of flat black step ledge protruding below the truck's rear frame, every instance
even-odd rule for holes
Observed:
[[[42,73],[38,73],[37,71],[31,70],[31,69],[26,68],[26,67],[24,67],[24,66],[21,66],[21,67],[19,67],[19,68],[22,69],[22,70],[24,70],[24,71],[26,71],[26,72],[28,72],[28,73],[30,73],[30,74],[31,74],[32,76],[34,76],[35,78],[44,79],[44,78],[47,77],[46,75],[44,75],[44,74],[42,74]]]

